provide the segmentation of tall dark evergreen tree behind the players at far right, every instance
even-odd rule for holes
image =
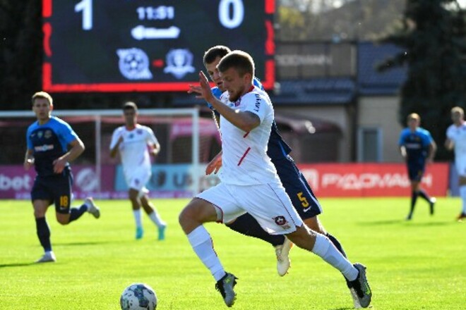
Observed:
[[[402,85],[399,121],[419,113],[422,126],[437,144],[445,141],[450,109],[466,108],[466,23],[465,11],[455,0],[407,0],[402,27],[381,39],[400,46],[399,54],[388,58],[378,70],[407,66]],[[448,159],[438,149],[437,159]]]

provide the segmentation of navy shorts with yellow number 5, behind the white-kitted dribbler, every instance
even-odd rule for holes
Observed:
[[[301,219],[306,220],[321,214],[321,204],[318,203],[316,195],[312,192],[304,175],[294,164],[292,157],[287,156],[284,159],[274,160],[273,164]]]

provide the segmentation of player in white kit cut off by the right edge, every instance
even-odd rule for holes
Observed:
[[[466,218],[466,123],[465,111],[459,106],[451,109],[451,120],[453,124],[446,131],[447,140],[445,147],[454,149],[455,166],[460,181],[460,197],[462,199],[462,210],[458,221]]]

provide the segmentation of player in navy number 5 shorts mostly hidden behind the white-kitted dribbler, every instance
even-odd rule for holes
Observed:
[[[223,56],[229,53],[230,49],[227,46],[213,46],[205,52],[203,57],[204,66],[207,70],[210,79],[215,83],[212,92],[215,97],[219,98],[223,92],[222,78],[219,75],[217,64],[223,58]],[[263,89],[261,82],[254,77],[253,85],[256,85]],[[210,109],[213,109],[210,106]],[[217,113],[214,110],[215,119],[217,125],[220,126]],[[270,138],[268,140],[267,155],[270,157],[273,165],[277,170],[277,174],[282,182],[285,191],[292,201],[294,209],[297,210],[299,216],[304,223],[312,230],[325,235],[335,245],[337,250],[346,257],[345,251],[342,248],[340,242],[333,236],[330,235],[322,223],[318,220],[318,214],[322,212],[321,205],[319,204],[316,195],[311,190],[306,178],[299,171],[299,168],[294,163],[289,153],[291,148],[286,144],[277,129],[275,120],[272,124],[272,130],[270,132]],[[213,161],[208,164],[206,173],[217,173],[222,166],[222,153],[215,156]],[[251,216],[249,213],[239,216],[234,222],[226,224],[232,230],[237,231],[243,235],[249,235],[252,237],[258,237],[261,240],[269,242],[275,247],[277,254],[277,272],[279,275],[285,275],[289,268],[289,257],[288,252],[291,248],[291,242],[282,235],[269,235],[262,228],[261,225]],[[346,279],[345,279],[346,280]],[[354,306],[359,307],[359,301],[357,298],[358,292],[354,290],[351,283],[347,281],[347,286],[352,294]]]

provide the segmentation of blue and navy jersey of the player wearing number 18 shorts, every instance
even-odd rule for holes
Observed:
[[[32,123],[26,132],[26,141],[34,156],[37,175],[54,175],[54,160],[66,154],[68,144],[77,139],[71,126],[55,116],[43,125],[38,121]]]

